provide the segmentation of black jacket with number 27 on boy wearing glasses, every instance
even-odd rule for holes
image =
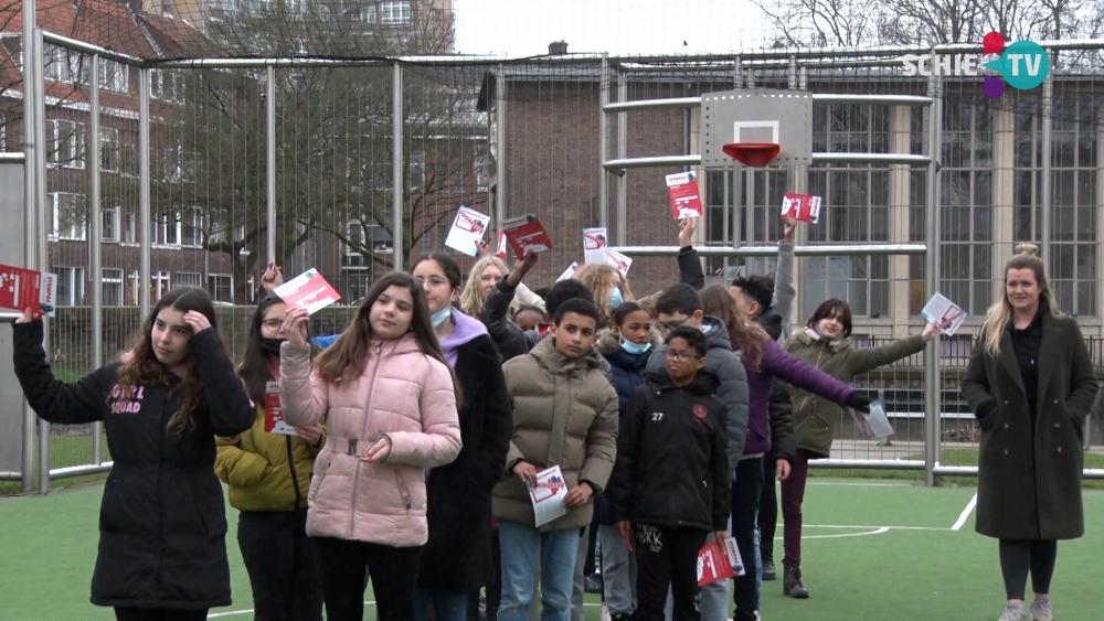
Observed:
[[[713,394],[716,385],[709,373],[682,388],[666,373],[646,375],[622,418],[606,491],[614,522],[728,527],[728,413]]]

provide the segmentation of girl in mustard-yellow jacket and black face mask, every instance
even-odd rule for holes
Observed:
[[[237,374],[256,404],[253,428],[217,437],[214,470],[230,488],[230,504],[241,513],[237,545],[253,588],[256,619],[321,621],[322,587],[315,548],[307,538],[307,489],[318,450],[326,442],[320,422],[272,429],[266,410],[279,382],[279,349],[287,340],[287,306],[277,297],[261,300],[246,336]]]

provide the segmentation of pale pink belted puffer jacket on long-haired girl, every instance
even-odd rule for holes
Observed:
[[[425,544],[425,469],[460,452],[448,367],[414,336],[372,342],[360,377],[330,385],[310,372],[310,346],[280,346],[280,404],[295,426],[326,417],[327,439],[307,494],[307,534],[394,547]],[[359,459],[383,435],[386,461]]]

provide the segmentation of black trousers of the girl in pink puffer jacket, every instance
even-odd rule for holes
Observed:
[[[327,621],[362,621],[371,576],[379,621],[412,621],[422,546],[396,548],[316,537]]]

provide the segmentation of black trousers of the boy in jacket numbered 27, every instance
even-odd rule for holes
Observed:
[[[634,621],[662,621],[668,588],[675,603],[673,621],[700,621],[698,552],[708,531],[655,524],[634,524],[636,553],[636,613]]]

